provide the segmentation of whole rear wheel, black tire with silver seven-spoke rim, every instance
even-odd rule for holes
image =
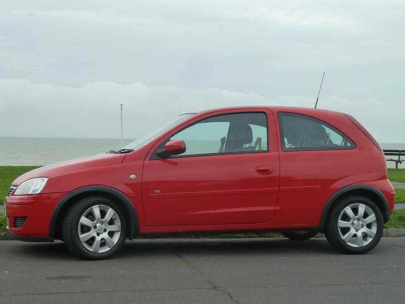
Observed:
[[[365,197],[349,197],[333,209],[325,235],[335,249],[361,254],[377,246],[383,226],[384,219],[376,203]]]

